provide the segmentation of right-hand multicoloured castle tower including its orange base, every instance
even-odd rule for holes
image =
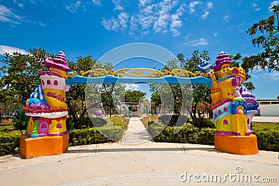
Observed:
[[[239,155],[255,154],[258,153],[257,137],[252,135],[250,121],[257,112],[257,102],[245,88],[239,89],[246,80],[243,68],[231,68],[231,64],[229,55],[220,52],[215,66],[201,60],[197,67],[213,84],[211,109],[216,123],[215,148]]]

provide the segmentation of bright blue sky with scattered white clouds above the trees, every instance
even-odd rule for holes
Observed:
[[[207,50],[213,63],[221,51],[242,56],[262,52],[252,47],[246,30],[271,15],[269,7],[276,2],[0,0],[0,50],[62,50],[75,61],[87,55],[100,59],[131,42],[149,42],[188,57],[195,49]],[[256,98],[279,95],[279,72],[255,70],[252,82]]]

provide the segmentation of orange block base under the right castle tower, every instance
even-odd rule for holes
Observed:
[[[259,153],[257,137],[250,136],[221,136],[214,134],[215,149],[236,155],[254,155]]]

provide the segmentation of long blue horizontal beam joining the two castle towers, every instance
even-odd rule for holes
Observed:
[[[69,79],[66,79],[67,85],[73,84],[204,84],[212,87],[211,78],[203,76],[199,77],[176,77],[171,75],[165,75],[158,78],[133,78],[133,77],[115,77],[112,75],[106,75],[103,77],[83,77],[75,75]]]

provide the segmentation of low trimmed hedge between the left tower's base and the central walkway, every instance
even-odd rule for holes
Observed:
[[[92,127],[86,129],[70,130],[68,132],[69,146],[82,146],[89,144],[103,144],[108,142],[119,141],[123,137],[125,132],[124,127],[118,126],[104,126],[104,127]],[[124,125],[124,124],[122,124]]]

